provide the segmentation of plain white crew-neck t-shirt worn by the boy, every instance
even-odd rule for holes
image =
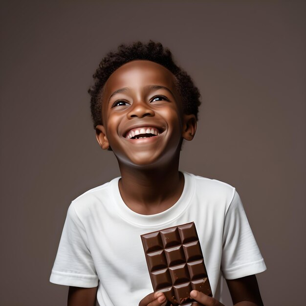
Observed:
[[[138,305],[153,292],[140,235],[194,221],[214,297],[221,278],[266,269],[235,188],[188,173],[179,200],[156,215],[123,202],[119,177],[72,201],[50,282],[95,287],[100,306]]]

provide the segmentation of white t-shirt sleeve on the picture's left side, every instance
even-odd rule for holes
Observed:
[[[86,288],[98,285],[86,230],[74,210],[73,202],[68,208],[50,282]]]

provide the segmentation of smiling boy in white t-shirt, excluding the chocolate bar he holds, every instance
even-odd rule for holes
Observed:
[[[69,285],[68,306],[161,306],[140,235],[194,221],[217,306],[221,274],[235,305],[262,305],[265,270],[240,198],[225,183],[178,171],[182,141],[197,128],[199,92],[161,44],[121,45],[89,90],[96,138],[121,177],[72,201],[50,281]],[[198,305],[198,304],[197,304]]]

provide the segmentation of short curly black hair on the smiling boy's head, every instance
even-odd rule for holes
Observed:
[[[109,76],[120,66],[135,60],[147,60],[160,64],[170,70],[176,78],[176,87],[180,93],[185,114],[194,114],[197,118],[200,105],[200,93],[191,77],[181,67],[175,64],[172,53],[161,43],[149,41],[144,44],[121,44],[116,52],[109,52],[93,74],[94,85],[88,89],[91,96],[90,110],[93,127],[102,124],[101,92]]]

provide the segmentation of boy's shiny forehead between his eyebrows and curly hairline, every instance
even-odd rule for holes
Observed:
[[[108,96],[120,88],[140,88],[159,85],[176,91],[174,74],[162,65],[151,61],[132,61],[116,69],[104,86],[104,95]]]

